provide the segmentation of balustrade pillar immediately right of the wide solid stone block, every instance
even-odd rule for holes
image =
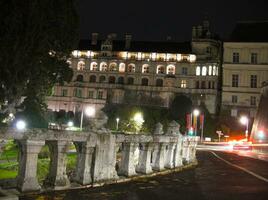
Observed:
[[[136,174],[134,153],[137,147],[137,143],[123,143],[122,158],[119,164],[118,174],[125,176],[134,176]]]

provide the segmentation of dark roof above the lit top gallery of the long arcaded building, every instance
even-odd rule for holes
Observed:
[[[81,40],[78,50],[101,50],[101,40],[97,45],[92,45],[91,40]],[[156,52],[156,53],[191,53],[190,42],[173,41],[131,41],[130,48],[125,48],[124,40],[113,40],[113,51],[133,51],[133,52]]]

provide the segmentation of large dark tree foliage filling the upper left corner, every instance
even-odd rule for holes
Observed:
[[[71,80],[72,70],[66,60],[78,41],[74,1],[0,2],[2,112],[8,106],[18,105],[24,97],[20,108],[26,117],[43,113],[46,109],[44,98],[53,85]]]

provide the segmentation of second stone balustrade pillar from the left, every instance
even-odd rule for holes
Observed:
[[[62,140],[47,141],[50,150],[50,167],[49,174],[45,180],[45,186],[54,189],[66,188],[70,181],[66,174],[69,142]]]

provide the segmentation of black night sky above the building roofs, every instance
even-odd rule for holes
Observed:
[[[268,20],[268,0],[79,0],[81,38],[131,33],[134,40],[189,40],[205,15],[225,38],[238,20]]]

